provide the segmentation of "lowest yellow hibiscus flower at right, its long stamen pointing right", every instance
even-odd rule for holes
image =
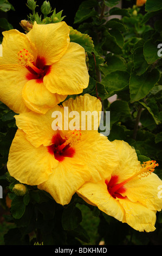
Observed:
[[[127,223],[135,230],[154,231],[156,212],[162,208],[158,197],[159,177],[152,173],[154,161],[140,164],[135,150],[124,141],[113,141],[119,155],[119,165],[99,182],[86,182],[77,193],[87,203],[109,216]]]

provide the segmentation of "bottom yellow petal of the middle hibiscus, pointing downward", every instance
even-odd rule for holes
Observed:
[[[76,190],[90,179],[90,175],[85,162],[66,157],[38,188],[50,193],[57,203],[65,205],[70,202]]]

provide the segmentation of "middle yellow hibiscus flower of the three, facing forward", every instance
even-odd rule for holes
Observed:
[[[63,106],[49,109],[46,114],[31,111],[16,115],[18,130],[7,164],[15,179],[37,185],[62,205],[70,202],[83,183],[100,180],[106,168],[111,173],[118,164],[113,144],[98,130],[59,130],[60,126],[52,129],[53,113],[60,113],[67,125],[66,108],[69,115],[77,112],[81,116],[82,111],[101,111],[101,102],[85,94],[64,101]],[[72,120],[69,118],[68,124]]]

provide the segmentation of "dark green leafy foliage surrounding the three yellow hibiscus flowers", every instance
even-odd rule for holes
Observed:
[[[155,173],[162,178],[162,62],[157,54],[162,41],[161,0],[147,0],[142,7],[129,0],[45,2],[0,0],[1,32],[16,28],[27,33],[21,20],[66,21],[70,40],[82,45],[87,54],[90,80],[82,94],[99,97],[103,110],[110,111],[108,139],[128,142],[141,162],[156,160],[159,168]],[[39,6],[33,7],[33,3]],[[2,39],[1,34],[0,42]],[[98,245],[101,240],[105,245],[162,244],[161,212],[157,213],[156,230],[140,233],[76,194],[69,205],[61,206],[36,187],[27,186],[23,196],[14,193],[18,181],[9,175],[6,164],[17,130],[15,113],[2,102],[0,109],[0,244]]]

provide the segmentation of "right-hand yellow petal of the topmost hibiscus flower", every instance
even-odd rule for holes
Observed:
[[[72,95],[82,93],[89,83],[85,50],[79,44],[70,42],[63,57],[50,67],[43,82],[51,93]]]

